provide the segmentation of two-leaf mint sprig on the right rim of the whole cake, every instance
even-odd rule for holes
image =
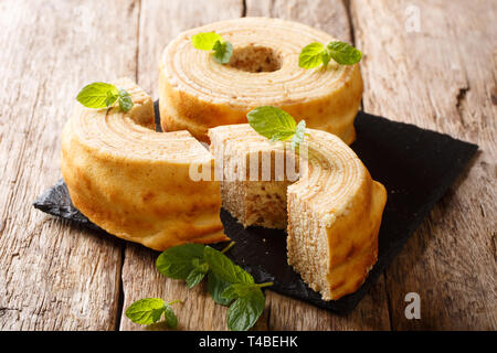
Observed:
[[[321,43],[310,43],[306,45],[298,56],[298,66],[303,68],[314,68],[319,65],[328,65],[330,60],[340,65],[353,65],[361,61],[362,52],[352,45],[335,41],[324,45]]]

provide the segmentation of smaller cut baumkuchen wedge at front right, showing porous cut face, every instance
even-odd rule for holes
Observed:
[[[277,181],[275,168],[267,181],[233,181],[234,165],[251,170],[251,161],[262,161],[264,154],[271,153],[273,162],[278,154],[294,152],[281,142],[268,142],[247,124],[209,130],[224,179],[223,206],[245,226],[282,226],[276,220],[287,220],[288,264],[324,300],[335,300],[356,291],[377,261],[387,192],[339,138],[315,129],[306,133],[308,157],[295,163],[300,176],[292,183],[287,174]],[[252,159],[254,154],[258,159]],[[235,178],[241,175],[235,172]]]

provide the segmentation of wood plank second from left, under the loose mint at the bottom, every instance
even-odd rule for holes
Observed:
[[[240,0],[215,0],[201,3],[197,0],[144,0],[140,9],[139,51],[137,78],[141,87],[158,97],[158,63],[167,43],[179,32],[214,21],[239,18],[243,14]],[[159,253],[128,244],[123,267],[124,310],[120,330],[156,330],[162,324],[140,327],[124,315],[135,300],[158,297],[180,299],[175,304],[178,330],[226,330],[226,308],[215,304],[203,285],[193,290],[183,281],[159,275],[155,260]]]

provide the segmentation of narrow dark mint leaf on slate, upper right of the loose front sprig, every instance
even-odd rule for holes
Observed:
[[[219,279],[231,284],[253,284],[254,278],[240,266],[233,264],[224,254],[205,246],[203,258]]]

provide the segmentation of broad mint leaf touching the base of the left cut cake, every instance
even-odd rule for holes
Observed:
[[[171,247],[159,255],[156,267],[162,275],[173,279],[187,279],[195,268],[193,259],[203,259],[201,244],[184,244]]]

